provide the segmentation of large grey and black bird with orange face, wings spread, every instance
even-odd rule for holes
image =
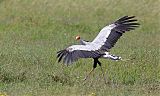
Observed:
[[[123,16],[113,23],[103,27],[92,42],[83,40],[80,36],[76,36],[76,40],[79,40],[80,44],[72,45],[58,51],[58,63],[63,61],[64,64],[71,65],[80,58],[93,58],[93,68],[84,80],[89,77],[98,64],[101,68],[104,81],[106,83],[104,71],[101,67],[102,64],[99,59],[109,58],[115,61],[123,60],[120,56],[110,54],[111,48],[114,47],[118,39],[120,39],[125,32],[134,30],[136,27],[139,27],[139,25],[140,24],[138,23],[138,20],[135,19],[135,16]]]

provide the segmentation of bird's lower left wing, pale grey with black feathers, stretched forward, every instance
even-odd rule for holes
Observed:
[[[104,53],[94,49],[92,45],[72,45],[57,52],[58,62],[63,60],[65,64],[71,64],[79,58],[98,58],[102,55]]]

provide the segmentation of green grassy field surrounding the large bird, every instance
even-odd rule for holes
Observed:
[[[135,15],[141,26],[126,33],[82,84],[92,59],[58,64],[56,52],[76,35],[93,40],[106,24]],[[160,0],[0,0],[0,96],[159,96]]]

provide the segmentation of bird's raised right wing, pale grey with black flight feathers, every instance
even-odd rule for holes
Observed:
[[[126,31],[134,30],[140,24],[137,23],[135,16],[124,16],[114,23],[105,26],[97,35],[97,37],[92,41],[92,43],[97,44],[97,49],[108,51],[114,47],[118,39]]]

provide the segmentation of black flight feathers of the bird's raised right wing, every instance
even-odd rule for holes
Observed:
[[[135,16],[124,16],[117,21],[115,21],[113,24],[116,25],[115,28],[113,28],[108,36],[106,38],[105,44],[101,47],[101,50],[109,51],[118,39],[125,33],[126,31],[134,30],[136,27],[139,27],[139,23],[137,23],[137,19],[134,19]]]

